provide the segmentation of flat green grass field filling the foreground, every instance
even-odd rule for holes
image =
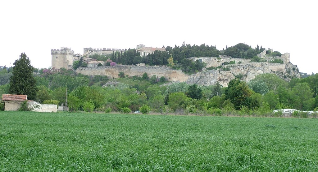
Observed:
[[[0,171],[318,171],[318,119],[0,111]]]

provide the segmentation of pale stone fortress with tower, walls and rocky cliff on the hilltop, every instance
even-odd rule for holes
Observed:
[[[143,44],[138,45],[137,50],[142,53],[151,53],[156,49],[162,50],[164,48],[146,48]],[[84,55],[93,54],[112,54],[114,51],[125,51],[127,49],[110,49],[110,48],[84,48]],[[146,50],[149,50],[146,52]],[[273,49],[268,48],[273,51]],[[79,60],[81,55],[74,54],[71,48],[62,47],[60,50],[52,49],[52,68],[59,69],[64,67],[66,69],[72,69],[73,61]],[[275,73],[279,77],[290,80],[293,77],[300,78],[300,73],[297,66],[290,63],[290,54],[281,54],[279,57],[272,57],[266,55],[266,50],[258,54],[260,58],[266,59],[266,62],[251,62],[251,59],[231,58],[229,56],[221,55],[220,57],[191,57],[188,58],[191,61],[199,60],[200,62],[207,63],[208,67],[223,66],[230,70],[206,70],[198,72],[196,74],[188,75],[181,70],[174,70],[171,67],[159,67],[145,65],[116,65],[116,66],[101,66],[101,67],[79,67],[76,73],[84,75],[103,75],[108,78],[118,78],[119,72],[124,72],[128,76],[142,76],[143,73],[147,73],[148,76],[156,75],[157,77],[164,76],[169,81],[187,82],[189,84],[197,83],[199,85],[214,85],[219,82],[223,86],[227,86],[230,80],[235,79],[237,76],[243,76],[240,79],[248,82],[255,78],[256,75],[262,73]],[[273,59],[280,59],[283,61],[280,63],[270,63]],[[235,61],[235,64],[226,64],[225,62]]]

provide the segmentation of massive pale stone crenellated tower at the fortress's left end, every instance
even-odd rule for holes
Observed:
[[[59,69],[64,67],[72,69],[74,61],[74,51],[71,48],[61,47],[61,49],[51,49],[52,68]]]

